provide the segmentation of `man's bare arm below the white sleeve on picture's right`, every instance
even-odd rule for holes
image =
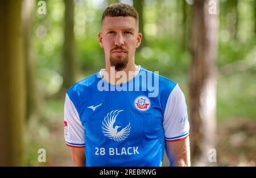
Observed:
[[[189,136],[174,142],[166,141],[166,154],[172,166],[191,166]]]

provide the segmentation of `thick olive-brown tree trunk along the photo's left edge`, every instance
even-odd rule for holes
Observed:
[[[26,83],[21,0],[0,1],[0,165],[23,165]]]

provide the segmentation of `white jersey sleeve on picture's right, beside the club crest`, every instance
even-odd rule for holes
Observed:
[[[177,84],[168,97],[163,119],[167,142],[183,140],[189,135],[189,122],[185,96]]]

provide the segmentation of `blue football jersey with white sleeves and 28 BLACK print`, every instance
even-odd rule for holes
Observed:
[[[163,166],[165,142],[189,134],[179,85],[140,66],[133,79],[116,86],[97,72],[67,91],[66,144],[85,147],[86,166]]]

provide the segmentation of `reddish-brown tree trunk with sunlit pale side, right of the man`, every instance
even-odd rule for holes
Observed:
[[[216,140],[216,55],[218,15],[209,14],[209,1],[192,7],[192,62],[189,81],[192,163],[208,164],[208,151]],[[216,8],[218,9],[218,1]]]

